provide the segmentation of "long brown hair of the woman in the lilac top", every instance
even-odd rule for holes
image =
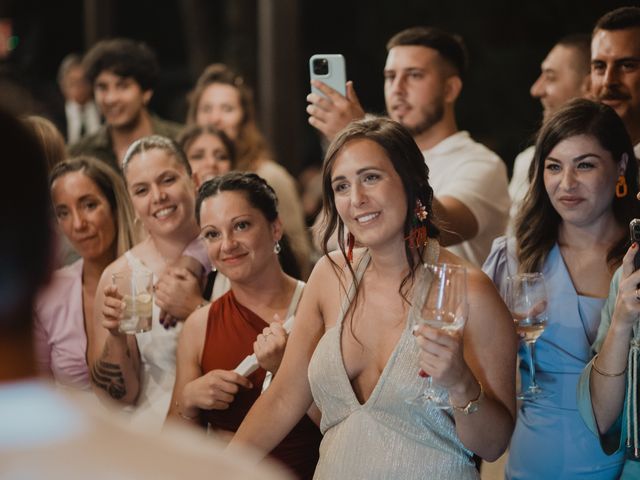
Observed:
[[[124,255],[136,243],[136,233],[133,228],[133,207],[129,202],[127,189],[124,180],[113,168],[96,158],[75,157],[58,163],[49,174],[49,189],[53,183],[71,172],[82,172],[93,183],[96,184],[100,192],[105,196],[111,215],[116,224],[116,255]]]

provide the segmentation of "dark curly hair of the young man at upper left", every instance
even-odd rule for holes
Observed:
[[[96,43],[82,61],[91,84],[104,71],[133,78],[142,90],[153,90],[160,68],[153,51],[142,42],[114,38]]]

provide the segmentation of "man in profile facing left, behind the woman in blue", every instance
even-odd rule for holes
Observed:
[[[568,35],[560,39],[540,65],[540,76],[531,85],[531,96],[540,100],[543,120],[573,98],[585,97],[590,87],[591,38],[588,34]],[[533,160],[533,145],[515,159],[509,183],[511,211],[509,230],[520,203],[529,188],[529,165]]]

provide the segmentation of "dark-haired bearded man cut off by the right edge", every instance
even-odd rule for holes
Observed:
[[[640,8],[603,15],[591,37],[591,92],[622,118],[640,156]]]

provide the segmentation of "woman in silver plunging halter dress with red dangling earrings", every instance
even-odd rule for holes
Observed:
[[[324,434],[315,478],[478,478],[473,454],[498,458],[514,426],[509,312],[479,269],[439,247],[428,168],[404,127],[354,122],[329,147],[323,177],[325,238],[337,229],[340,251],[316,265],[278,375],[233,443],[268,451],[315,401]],[[464,335],[413,332],[424,262],[467,268]],[[405,401],[420,391],[421,369],[456,408]]]

